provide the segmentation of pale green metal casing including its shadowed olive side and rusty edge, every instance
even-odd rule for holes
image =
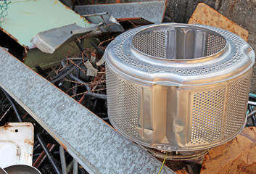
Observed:
[[[0,5],[3,3],[4,1],[0,1]],[[63,53],[70,51],[70,46],[65,44],[55,54],[45,54],[30,42],[37,33],[73,23],[81,28],[91,26],[79,14],[55,0],[12,0],[8,5],[8,15],[4,19],[1,22],[0,37],[5,38],[0,40],[0,46],[7,47],[10,53],[33,69],[36,65],[43,69],[57,65]],[[5,46],[7,43],[9,44]],[[75,51],[71,50],[70,53]]]

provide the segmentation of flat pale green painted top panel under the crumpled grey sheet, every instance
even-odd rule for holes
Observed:
[[[0,4],[4,1],[0,1]],[[32,46],[37,33],[76,23],[88,28],[91,24],[57,0],[12,0],[1,28],[23,46]]]

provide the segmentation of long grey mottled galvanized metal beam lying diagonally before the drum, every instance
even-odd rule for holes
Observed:
[[[160,170],[161,162],[1,48],[0,86],[89,173]]]

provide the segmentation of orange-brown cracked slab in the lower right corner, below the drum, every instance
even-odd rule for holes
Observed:
[[[256,173],[256,128],[249,127],[205,155],[200,174]]]

